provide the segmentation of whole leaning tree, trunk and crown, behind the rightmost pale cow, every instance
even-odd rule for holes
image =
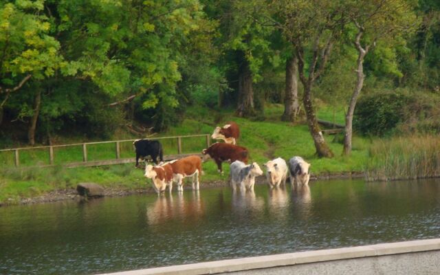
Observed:
[[[312,87],[324,72],[333,43],[344,25],[338,1],[274,1],[274,21],[298,56],[298,72],[304,86],[307,125],[319,157],[333,157],[320,131],[312,99]],[[306,72],[308,71],[308,72]]]

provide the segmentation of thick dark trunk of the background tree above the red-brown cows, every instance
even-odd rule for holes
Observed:
[[[239,69],[239,105],[236,114],[239,117],[249,117],[255,114],[254,91],[252,89],[252,72],[249,62],[243,58]]]

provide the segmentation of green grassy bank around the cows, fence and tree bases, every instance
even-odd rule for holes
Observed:
[[[279,118],[283,113],[283,107],[272,105],[265,109],[265,121],[252,121],[243,118],[235,118],[232,111],[212,112],[209,110],[188,110],[187,119],[178,126],[169,129],[166,133],[160,133],[157,136],[168,135],[189,135],[196,133],[211,133],[214,126],[222,124],[229,120],[236,121],[241,127],[241,139],[239,144],[245,146],[250,151],[252,162],[263,164],[268,159],[274,157],[283,157],[289,159],[294,155],[301,155],[311,163],[311,173],[314,175],[323,175],[331,173],[344,173],[361,171],[364,169],[368,155],[369,142],[366,139],[355,137],[353,140],[353,153],[351,157],[342,157],[342,144],[331,142],[333,136],[327,136],[327,141],[336,157],[333,159],[320,159],[314,155],[315,148],[311,140],[307,125],[303,123],[292,124],[281,122]],[[333,115],[333,111],[322,109],[323,116]],[[336,113],[337,122],[343,120],[342,111]],[[217,120],[217,122],[216,122]],[[117,137],[120,138],[120,137]],[[203,137],[198,140],[183,140],[184,153],[200,152],[205,143]],[[104,144],[105,145],[105,144]],[[108,148],[107,148],[108,147]],[[132,157],[133,148],[131,144],[124,145],[122,157]],[[72,151],[63,151],[63,161],[71,159],[80,160],[80,148]],[[177,144],[175,140],[164,142],[165,153],[175,153]],[[34,153],[23,158],[27,158],[28,163],[46,162],[47,152],[41,155]],[[55,152],[57,154],[57,152]],[[60,154],[61,151],[58,152]],[[79,155],[78,155],[79,154]],[[89,156],[95,159],[105,159],[114,157],[113,146],[101,146],[94,148]],[[33,160],[32,160],[33,159]],[[76,161],[78,161],[76,160]],[[23,159],[25,161],[25,159]],[[23,161],[21,161],[23,163]],[[5,167],[11,165],[2,165],[0,170],[0,202],[13,202],[21,197],[32,197],[41,195],[51,190],[75,188],[79,182],[96,182],[108,188],[145,188],[146,180],[141,169],[135,169],[133,164],[102,166],[92,168],[22,168],[5,170]],[[202,182],[221,181],[228,179],[229,166],[223,164],[224,175],[217,173],[217,166],[214,162],[203,164],[205,175]],[[150,184],[148,184],[148,187]]]

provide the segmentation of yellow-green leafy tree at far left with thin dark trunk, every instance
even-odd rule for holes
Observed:
[[[60,44],[50,35],[51,24],[43,14],[44,1],[0,1],[0,125],[3,109],[11,96],[17,94],[30,78],[35,81],[54,75],[63,58],[58,54]],[[38,118],[40,91],[34,95]],[[30,144],[34,144],[30,123]]]

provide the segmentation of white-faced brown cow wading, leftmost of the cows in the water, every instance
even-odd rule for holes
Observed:
[[[151,179],[157,195],[160,195],[160,192],[163,192],[166,186],[168,186],[170,192],[173,190],[173,167],[168,163],[158,166],[145,166],[144,176]]]

